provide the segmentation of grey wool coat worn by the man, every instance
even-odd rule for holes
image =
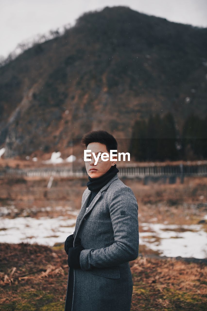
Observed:
[[[86,188],[76,220],[81,269],[68,273],[65,311],[130,311],[133,282],[129,261],[139,251],[138,205],[116,174],[94,197]],[[74,244],[73,244],[74,246]]]

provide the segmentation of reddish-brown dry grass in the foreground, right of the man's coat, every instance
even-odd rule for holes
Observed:
[[[130,266],[134,282],[131,310],[204,310],[205,264],[138,257]]]

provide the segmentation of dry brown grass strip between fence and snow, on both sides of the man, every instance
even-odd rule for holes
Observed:
[[[54,179],[51,189],[47,189],[48,179],[0,179],[0,206],[11,207],[7,215],[11,218],[68,215],[67,207],[81,208],[87,181],[87,178]],[[178,179],[176,184],[144,185],[136,179],[123,180],[136,196],[140,222],[157,218],[154,222],[196,224],[207,212],[207,178],[186,177],[184,181],[184,184]],[[43,210],[47,207],[51,210]]]

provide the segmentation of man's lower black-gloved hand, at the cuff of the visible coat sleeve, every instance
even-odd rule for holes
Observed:
[[[85,249],[81,245],[81,239],[76,238],[76,241],[74,243],[75,247],[71,247],[68,250],[68,258],[67,258],[67,263],[70,268],[81,268],[80,265],[80,255],[83,249]]]

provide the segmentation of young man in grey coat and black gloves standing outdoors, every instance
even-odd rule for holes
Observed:
[[[95,153],[117,150],[106,131],[90,131],[81,142]],[[116,157],[113,157],[116,159]],[[133,282],[129,261],[139,249],[138,205],[131,188],[118,178],[116,161],[95,165],[87,157],[89,182],[74,234],[65,242],[68,284],[65,311],[130,311]]]

